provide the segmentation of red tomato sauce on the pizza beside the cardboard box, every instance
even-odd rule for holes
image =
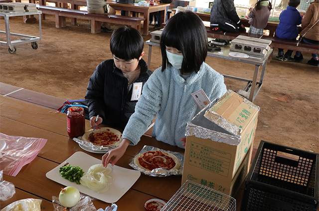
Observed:
[[[161,151],[144,152],[139,157],[139,163],[142,167],[153,170],[155,168],[172,169],[176,163],[173,158],[167,156]]]

